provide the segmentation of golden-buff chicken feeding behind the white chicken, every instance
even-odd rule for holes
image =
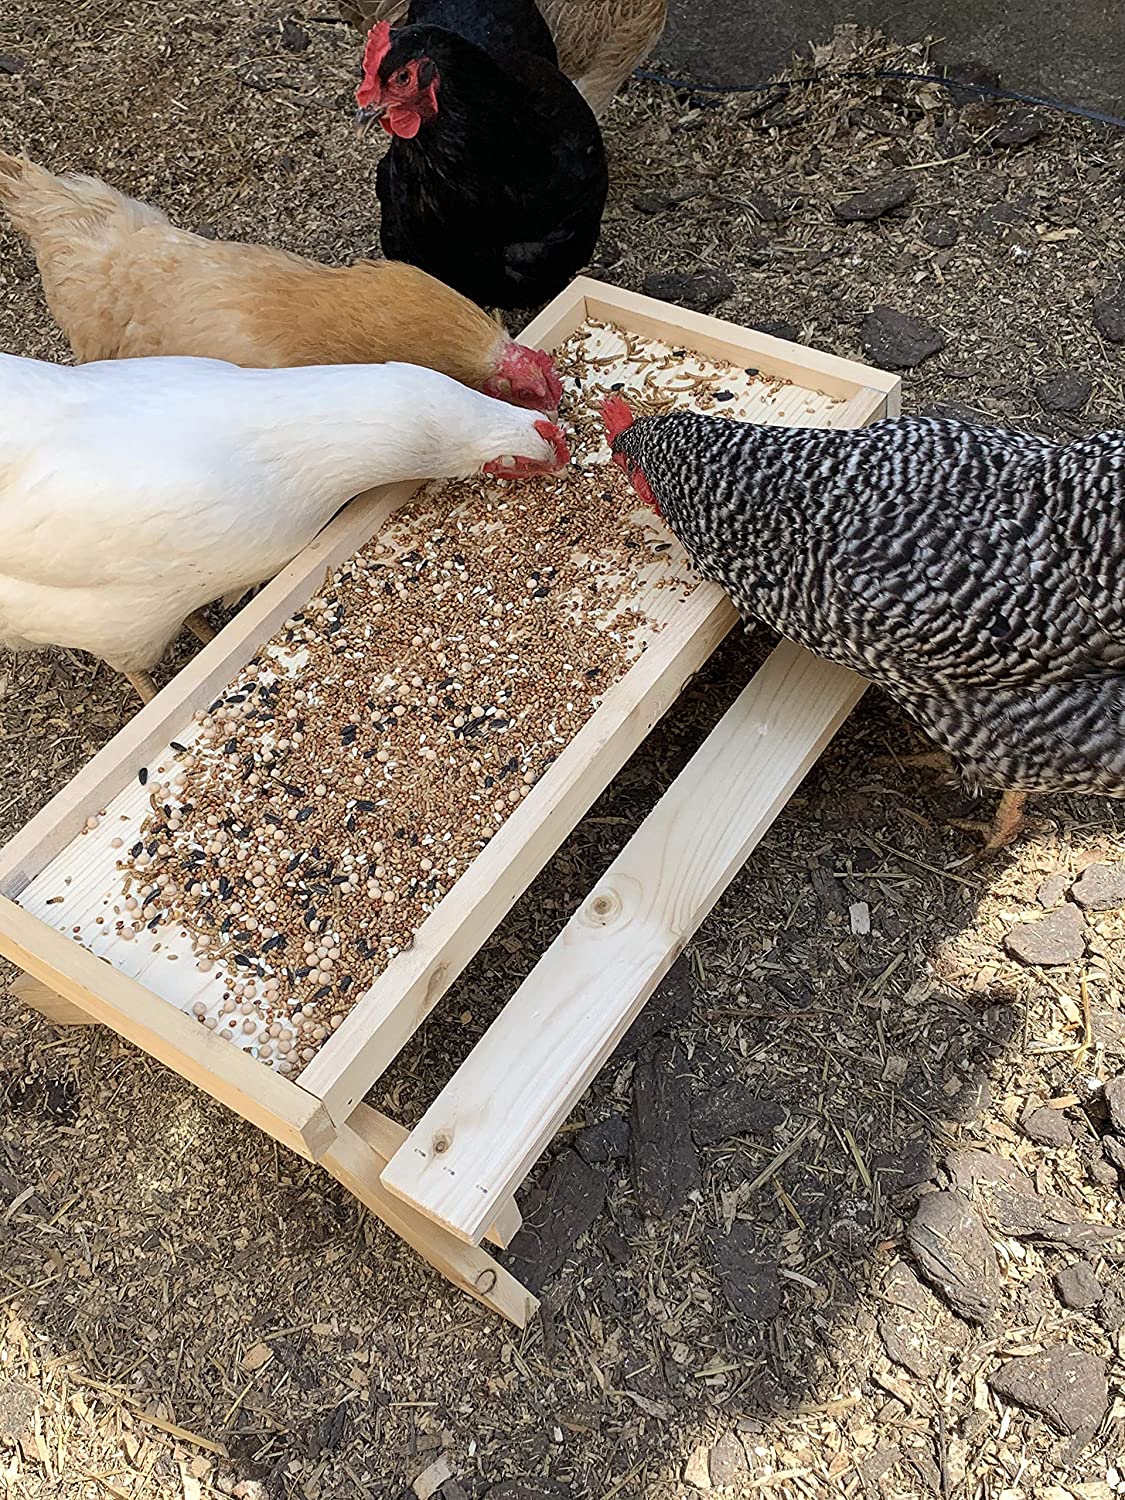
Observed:
[[[0,204],[28,240],[78,360],[194,354],[246,366],[408,360],[555,411],[550,358],[460,292],[392,261],[328,267],[177,230],[96,177],[0,152]]]

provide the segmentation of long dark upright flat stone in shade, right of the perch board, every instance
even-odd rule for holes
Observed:
[[[699,1158],[688,1128],[684,1054],[666,1036],[652,1041],[633,1071],[630,1160],[638,1208],[672,1214],[699,1186]]]

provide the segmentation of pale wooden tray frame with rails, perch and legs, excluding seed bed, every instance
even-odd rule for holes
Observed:
[[[522,338],[555,348],[588,318],[840,398],[834,426],[898,412],[897,376],[585,278]],[[363,1095],[732,627],[714,585],[692,591],[434,912],[424,940],[399,956],[393,993],[376,981],[297,1082],[18,904],[86,819],[414,488],[352,501],[8,843],[0,952],[52,992],[39,1000],[51,1020],[100,1022],[136,1042],[321,1162],[444,1276],[524,1326],[536,1299],[478,1240],[506,1245],[516,1233],[513,1190],[858,699],[858,678],[789,645],[774,651],[410,1134]]]

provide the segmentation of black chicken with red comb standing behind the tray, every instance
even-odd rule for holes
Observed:
[[[356,90],[360,122],[392,136],[375,180],[382,252],[484,308],[546,302],[597,243],[597,120],[555,68],[534,0],[486,14],[414,0],[410,21],[372,27]]]

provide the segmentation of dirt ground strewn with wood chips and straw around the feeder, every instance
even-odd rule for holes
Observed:
[[[366,254],[375,164],[330,9],[6,0],[0,141],[196,230]],[[945,338],[908,410],[1119,424],[1092,304],[1125,270],[1125,136],[832,75],[904,60],[926,56],[842,38],[789,94],[630,87],[594,273],[672,273],[852,357],[890,304]],[[912,200],[834,214],[886,182]],[[0,270],[0,348],[66,357],[6,231]],[[1048,414],[1060,370],[1092,392]],[[768,645],[717,656],[375,1102],[418,1118]],[[135,705],[62,652],[0,674],[9,837]],[[444,1460],[444,1500],[1124,1494],[1125,1118],[1102,1084],[1125,1071],[1125,890],[1066,891],[1125,858],[1125,804],[1044,800],[980,866],[948,824],[964,796],[880,764],[916,744],[860,705],[537,1168],[508,1257],[543,1294],[524,1335],[110,1032],[0,1000],[6,1492],[398,1500]],[[1016,960],[1005,934],[1044,906],[1064,962]]]

